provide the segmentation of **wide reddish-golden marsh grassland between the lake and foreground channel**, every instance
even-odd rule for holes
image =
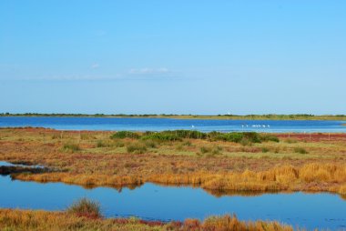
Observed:
[[[305,190],[340,194],[346,191],[346,136],[335,135],[320,141],[297,136],[291,142],[281,135],[280,143],[241,146],[192,139],[113,140],[109,138],[111,134],[43,128],[0,129],[0,160],[58,170],[14,176],[39,182],[117,187],[153,182],[220,191]],[[139,153],[128,153],[127,146],[138,142],[146,148]],[[66,144],[73,144],[73,148],[66,150]],[[268,152],[262,152],[264,147]],[[294,152],[297,147],[308,154]]]

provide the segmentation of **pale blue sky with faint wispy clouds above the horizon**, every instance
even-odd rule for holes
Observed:
[[[0,112],[346,114],[346,1],[3,0]]]

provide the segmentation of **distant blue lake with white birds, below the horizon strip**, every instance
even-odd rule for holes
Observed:
[[[0,127],[40,126],[62,130],[332,132],[346,133],[344,121],[209,120],[100,117],[0,117]]]

